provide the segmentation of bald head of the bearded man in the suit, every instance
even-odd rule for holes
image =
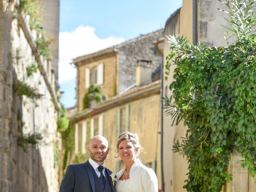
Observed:
[[[108,140],[101,135],[96,135],[90,140],[87,148],[90,158],[102,165],[108,154]]]

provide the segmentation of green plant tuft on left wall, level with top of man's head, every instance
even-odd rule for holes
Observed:
[[[42,140],[42,135],[40,133],[29,133],[29,134],[22,134],[18,136],[18,146],[21,146],[24,151],[28,149],[29,144],[36,145],[40,143]]]

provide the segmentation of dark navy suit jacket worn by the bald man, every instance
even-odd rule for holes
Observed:
[[[108,174],[106,176],[110,177],[112,171],[105,169]],[[69,165],[60,184],[59,192],[96,192],[92,171],[94,170],[89,161],[82,164]],[[110,177],[112,192],[115,192],[111,180]]]

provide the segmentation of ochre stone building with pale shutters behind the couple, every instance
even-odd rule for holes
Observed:
[[[155,170],[161,187],[162,55],[154,45],[160,38],[163,38],[162,29],[73,60],[77,67],[78,109],[74,115],[76,160],[73,162],[88,160],[88,142],[101,134],[108,139],[110,147],[106,166],[118,172],[123,164],[120,158],[115,158],[117,137],[124,130],[137,132],[146,151],[141,154],[142,162]],[[83,109],[83,98],[91,85],[99,86],[108,99]]]

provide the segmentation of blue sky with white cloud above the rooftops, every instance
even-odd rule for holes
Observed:
[[[164,28],[182,0],[60,0],[59,84],[66,108],[76,104],[73,58]]]

